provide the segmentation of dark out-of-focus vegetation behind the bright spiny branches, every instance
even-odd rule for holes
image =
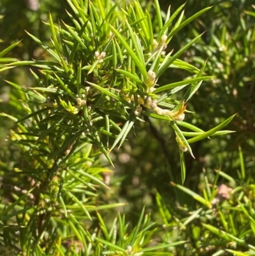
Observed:
[[[6,57],[20,60],[47,59],[47,53],[41,50],[25,31],[47,44],[50,30],[43,22],[48,22],[49,10],[55,23],[59,20],[64,20],[66,24],[70,22],[65,10],[69,13],[72,11],[66,0],[44,0],[40,1],[38,6],[33,6],[32,2],[37,1],[0,1],[0,51],[11,43],[22,40]],[[122,1],[122,4],[125,2],[127,1]],[[186,1],[159,2],[164,17],[169,4],[173,13]],[[145,8],[150,4],[150,1],[142,1]],[[205,176],[208,183],[214,182],[217,175],[215,170],[222,170],[222,173],[227,175],[219,176],[217,185],[245,188],[249,184],[255,184],[255,17],[250,13],[254,11],[252,4],[252,0],[189,0],[185,7],[186,17],[205,7],[213,8],[184,27],[168,45],[168,51],[178,50],[189,39],[205,31],[201,40],[181,57],[199,68],[203,60],[207,59],[205,73],[215,76],[213,80],[204,81],[198,93],[189,102],[187,107],[194,111],[194,114],[187,116],[188,122],[206,131],[238,113],[227,127],[236,133],[196,142],[192,145],[195,160],[186,154],[187,174],[184,186],[198,194],[201,194],[206,186]],[[187,73],[183,70],[168,70],[159,83],[169,84],[186,77]],[[29,67],[6,70],[0,75],[0,112],[22,117],[22,112],[18,112],[13,100],[20,96],[4,79],[20,85],[33,86],[34,80]],[[19,157],[18,149],[5,141],[10,126],[10,121],[1,121],[1,177],[4,177],[6,169],[17,164]],[[179,153],[176,147],[173,147],[175,135],[168,123],[147,119],[146,123],[135,127],[135,134],[129,134],[128,140],[119,151],[113,151],[111,156],[115,164],[114,175],[107,177],[111,190],[102,193],[100,200],[106,204],[128,202],[123,211],[127,214],[129,222],[133,223],[137,222],[138,213],[145,204],[147,210],[153,210],[154,220],[160,218],[157,192],[164,200],[170,215],[178,218],[185,216],[185,211],[182,213],[177,206],[195,210],[196,200],[175,190],[170,184],[170,181],[180,183],[180,161]],[[244,162],[240,158],[240,148]],[[104,158],[101,161],[107,164]],[[242,163],[247,173],[245,178],[241,175]],[[254,194],[251,200],[254,203]],[[110,213],[105,215],[110,219]]]

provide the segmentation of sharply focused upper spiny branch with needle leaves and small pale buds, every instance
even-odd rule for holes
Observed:
[[[156,31],[150,13],[137,1],[124,9],[110,1],[68,3],[75,14],[68,13],[74,26],[63,22],[56,26],[50,16],[51,47],[29,34],[47,50],[49,60],[10,63],[10,66],[37,66],[45,75],[45,80],[41,80],[32,72],[39,86],[25,91],[38,103],[33,106],[34,111],[19,122],[29,117],[41,118],[45,126],[37,132],[33,130],[33,135],[39,137],[38,141],[47,140],[49,135],[55,138],[52,158],[59,158],[70,148],[74,151],[85,141],[98,145],[112,162],[110,151],[122,145],[136,121],[143,121],[143,116],[168,120],[179,145],[184,181],[183,152],[189,151],[193,156],[191,143],[228,133],[218,131],[233,118],[208,132],[183,121],[188,100],[203,80],[212,78],[204,76],[205,64],[199,70],[178,59],[201,35],[174,54],[171,49],[168,54],[165,52],[175,33],[210,8],[184,21],[183,13],[177,19],[184,5],[173,15],[169,9],[163,24],[156,3]],[[168,68],[183,69],[191,75],[180,82],[157,84]],[[182,99],[175,100],[173,94],[187,86]],[[180,126],[192,132],[182,132]],[[63,134],[67,135],[64,139]],[[193,138],[186,139],[187,136]]]

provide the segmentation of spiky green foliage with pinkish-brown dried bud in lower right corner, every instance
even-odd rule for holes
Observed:
[[[250,184],[252,177],[246,175],[242,149],[239,150],[244,185],[237,184],[222,170],[216,170],[212,186],[207,172],[203,173],[205,184],[202,196],[172,183],[197,202],[194,207],[179,207],[178,211],[166,203],[167,198],[156,193],[157,206],[168,236],[190,241],[187,248],[177,248],[177,255],[254,254],[254,184]],[[220,177],[224,177],[232,188],[225,184],[216,188]]]

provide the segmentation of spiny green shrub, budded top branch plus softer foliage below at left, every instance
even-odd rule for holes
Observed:
[[[149,215],[142,213],[128,234],[124,216],[119,215],[109,230],[101,215],[94,213],[122,204],[98,202],[100,190],[108,188],[102,176],[110,170],[99,165],[99,153],[93,146],[112,162],[110,151],[123,144],[135,122],[144,121],[144,116],[169,121],[179,146],[184,182],[184,152],[193,156],[190,144],[230,133],[219,130],[233,116],[208,132],[183,121],[187,102],[203,80],[212,78],[203,73],[205,63],[200,70],[179,59],[201,35],[175,52],[168,49],[171,38],[182,27],[210,8],[186,20],[184,5],[172,15],[169,9],[163,24],[157,1],[153,22],[138,1],[124,8],[110,1],[67,1],[73,26],[63,22],[55,25],[50,16],[47,25],[52,39],[48,45],[28,33],[47,52],[47,61],[14,61],[1,66],[2,71],[27,65],[39,70],[31,70],[38,86],[25,88],[8,82],[22,91],[20,109],[25,116],[17,119],[1,114],[17,124],[10,139],[21,152],[18,167],[4,167],[11,174],[5,184],[16,179],[17,186],[11,186],[13,203],[0,214],[4,230],[1,253],[170,255],[183,242],[152,246],[150,237],[156,228]],[[159,77],[168,68],[186,70],[190,76],[160,84]],[[174,94],[187,86],[184,96],[176,100]],[[182,132],[180,126],[191,132]],[[16,222],[11,220],[14,216]],[[98,227],[93,227],[93,221],[98,221]]]

